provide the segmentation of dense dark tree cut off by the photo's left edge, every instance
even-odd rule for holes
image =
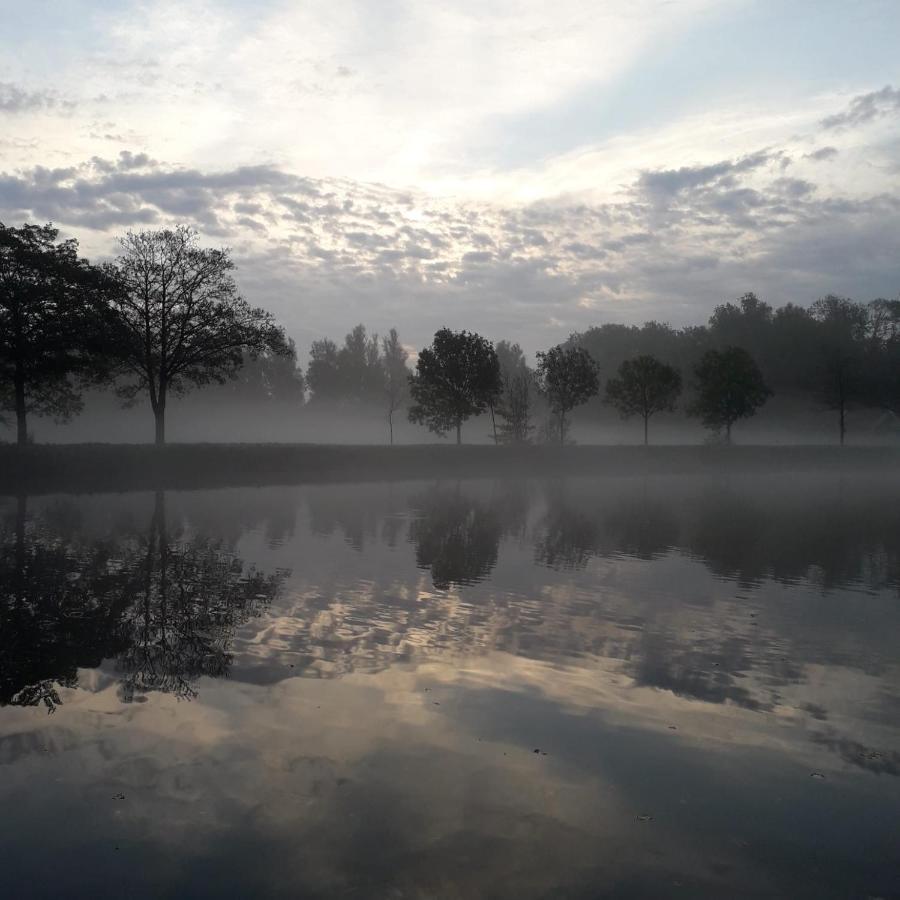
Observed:
[[[81,409],[81,386],[109,370],[104,339],[113,281],[57,243],[52,225],[0,223],[0,410],[15,413],[28,440],[28,414],[65,421]]]

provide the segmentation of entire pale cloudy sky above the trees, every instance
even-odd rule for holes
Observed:
[[[196,225],[301,351],[900,291],[897,0],[0,13],[0,221]]]

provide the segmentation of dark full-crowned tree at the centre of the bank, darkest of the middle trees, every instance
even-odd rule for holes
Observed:
[[[419,353],[409,387],[410,421],[441,436],[455,428],[460,444],[462,423],[484,412],[499,391],[497,354],[481,335],[442,328],[432,345]]]

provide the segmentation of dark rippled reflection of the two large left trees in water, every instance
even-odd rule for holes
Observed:
[[[61,702],[80,668],[115,658],[121,697],[147,691],[192,697],[202,676],[224,675],[234,632],[265,608],[284,573],[265,575],[196,537],[173,541],[165,495],[149,529],[83,540],[29,521],[16,503],[0,543],[0,705]]]

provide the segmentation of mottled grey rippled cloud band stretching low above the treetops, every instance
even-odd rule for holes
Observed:
[[[814,155],[791,177],[765,148],[644,168],[613,199],[503,204],[123,151],[0,173],[0,219],[52,220],[101,257],[126,228],[194,224],[301,349],[365,320],[414,346],[450,324],[535,350],[602,321],[702,322],[747,285],[775,305],[892,296],[900,191],[843,192]]]

